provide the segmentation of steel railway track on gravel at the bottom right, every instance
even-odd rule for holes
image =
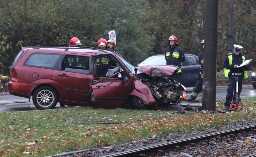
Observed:
[[[254,134],[256,132],[256,124],[255,125],[250,125],[250,126],[245,126],[241,128],[236,128],[236,129],[231,129],[231,130],[226,130],[226,131],[221,131],[221,132],[215,132],[211,134],[206,134],[206,135],[200,135],[196,137],[191,137],[191,138],[185,138],[177,141],[171,141],[171,142],[166,142],[162,144],[156,144],[152,146],[147,146],[147,147],[142,147],[142,148],[137,148],[125,152],[120,152],[120,153],[114,153],[110,155],[105,155],[104,157],[147,157],[147,156],[162,156],[164,153],[168,153],[171,151],[180,151],[181,149],[184,149],[186,147],[193,147],[196,145],[197,142],[203,141],[204,143],[209,143],[210,139],[217,138],[218,140],[221,140],[222,137],[224,136],[230,136],[230,137],[235,137],[236,134],[239,134],[242,132],[242,134],[246,134],[246,132],[253,131]],[[255,136],[252,139],[255,142]],[[75,153],[81,153],[81,152],[86,152],[86,150],[80,150],[80,151],[75,151],[75,152],[69,152],[69,153],[61,153],[53,156],[47,156],[47,157],[63,157],[63,156],[69,156]],[[191,155],[184,155],[184,156],[191,156]],[[251,155],[249,156],[256,156],[252,152]]]

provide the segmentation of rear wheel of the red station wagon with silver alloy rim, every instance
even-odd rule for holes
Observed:
[[[33,94],[33,103],[38,109],[51,109],[58,103],[58,94],[52,87],[40,87]]]

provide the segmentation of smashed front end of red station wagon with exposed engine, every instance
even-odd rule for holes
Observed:
[[[180,98],[183,96],[183,91],[186,88],[178,83],[171,76],[177,72],[178,67],[171,65],[147,65],[135,68],[136,77],[139,83],[136,83],[135,89],[141,94],[137,93],[136,96],[145,101],[142,105],[132,105],[135,108],[142,109],[159,105],[170,105],[180,103]],[[139,73],[138,73],[139,70]],[[145,92],[145,87],[148,89]],[[143,90],[138,90],[143,89]],[[149,92],[150,91],[150,92]],[[148,99],[146,99],[146,98]],[[155,100],[155,104],[153,99]],[[140,99],[138,99],[140,101]],[[151,104],[149,104],[150,102]],[[139,107],[138,107],[139,106]]]

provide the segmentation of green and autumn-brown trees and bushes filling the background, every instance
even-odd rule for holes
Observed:
[[[227,54],[229,5],[229,1],[218,2],[217,56],[221,64]],[[101,37],[108,40],[108,32],[115,30],[116,49],[136,65],[163,53],[171,35],[178,38],[185,53],[197,55],[205,33],[203,0],[3,0],[0,15],[0,72],[6,76],[22,46],[68,44],[75,36],[82,45],[97,47]],[[253,59],[254,70],[255,16],[253,0],[235,1],[233,43],[244,47],[242,53]]]

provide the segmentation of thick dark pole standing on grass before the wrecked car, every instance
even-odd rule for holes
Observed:
[[[216,109],[216,62],[218,1],[206,0],[205,7],[205,49],[203,65],[203,104],[205,110]]]

